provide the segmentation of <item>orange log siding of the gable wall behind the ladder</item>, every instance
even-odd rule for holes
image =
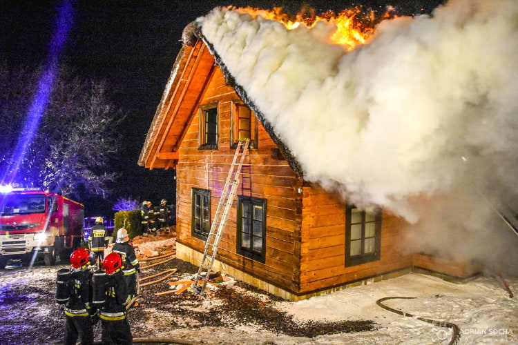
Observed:
[[[212,219],[235,152],[231,149],[230,132],[231,101],[236,99],[238,95],[225,85],[220,69],[216,68],[199,104],[218,102],[218,150],[198,150],[198,108],[191,115],[191,123],[178,148],[177,241],[200,252],[204,250],[204,242],[191,236],[191,190],[193,187],[211,190]],[[302,181],[287,161],[271,157],[271,148],[276,147],[265,128],[258,124],[258,147],[249,150],[244,161],[250,165],[247,177],[251,182],[251,194],[248,191],[242,193],[242,185],[238,186],[238,195],[267,200],[265,264],[236,253],[237,199],[220,241],[218,259],[258,279],[297,293],[301,210],[296,199],[300,198],[297,188],[302,188]]]

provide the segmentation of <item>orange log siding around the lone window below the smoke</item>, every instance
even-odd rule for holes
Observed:
[[[345,204],[321,188],[305,186],[302,217],[299,294],[402,270],[412,264],[411,255],[396,246],[402,219],[382,213],[381,259],[345,267]]]

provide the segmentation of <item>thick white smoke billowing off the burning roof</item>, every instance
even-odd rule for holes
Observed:
[[[305,179],[405,217],[414,247],[470,237],[479,256],[502,224],[492,207],[518,195],[518,1],[396,17],[349,52],[322,22],[287,30],[223,8],[198,23]]]

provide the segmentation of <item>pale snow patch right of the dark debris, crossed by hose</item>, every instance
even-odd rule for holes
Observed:
[[[513,291],[517,290],[517,277],[506,281]],[[441,339],[449,341],[448,328],[403,317],[376,305],[376,300],[392,296],[416,298],[385,301],[391,308],[457,324],[461,328],[460,344],[518,344],[518,300],[511,299],[503,284],[493,277],[454,284],[437,277],[409,274],[296,303],[281,302],[278,308],[285,308],[298,319],[364,318],[380,325],[376,332],[325,337],[343,344],[446,344]]]

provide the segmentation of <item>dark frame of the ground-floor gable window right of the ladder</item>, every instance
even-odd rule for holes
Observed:
[[[250,218],[245,217],[243,215],[243,205],[250,205],[250,206],[261,206],[262,207],[262,215],[261,219],[253,219],[253,214]],[[236,251],[238,254],[249,257],[250,259],[253,259],[257,262],[261,262],[264,264],[266,262],[266,211],[267,211],[267,204],[266,199],[259,199],[256,197],[245,197],[243,195],[238,195],[238,218],[237,218],[237,224],[236,224],[236,230],[237,230],[237,241],[236,241]],[[242,240],[243,240],[243,228],[242,224],[245,219],[249,219],[249,229],[251,234],[250,239],[250,246],[242,246]],[[253,237],[259,237],[258,235],[253,235],[254,229],[256,226],[260,225],[260,240],[261,240],[261,248],[260,250],[256,250],[253,248]]]

